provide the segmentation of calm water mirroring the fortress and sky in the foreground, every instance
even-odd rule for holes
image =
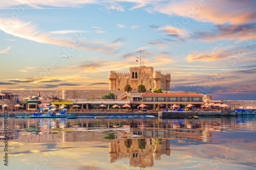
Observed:
[[[0,119],[0,169],[256,169],[256,116]]]

